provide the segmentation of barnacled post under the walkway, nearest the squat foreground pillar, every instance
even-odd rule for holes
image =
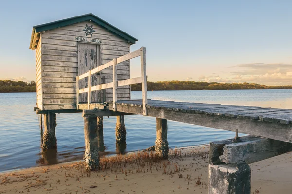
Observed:
[[[162,158],[168,158],[167,120],[156,118],[155,152]]]

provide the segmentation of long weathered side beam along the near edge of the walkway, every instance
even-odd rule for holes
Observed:
[[[117,111],[143,114],[142,107],[125,106],[117,103]],[[112,110],[112,104],[109,104]],[[263,120],[251,120],[244,118],[233,118],[218,115],[208,115],[199,113],[187,113],[173,110],[161,110],[155,108],[147,108],[148,116],[156,118],[164,118],[183,123],[211,127],[216,129],[235,131],[265,138],[275,139],[279,141],[292,142],[292,125],[281,123],[270,123]]]

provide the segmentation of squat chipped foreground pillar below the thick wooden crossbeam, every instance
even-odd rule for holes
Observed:
[[[248,164],[209,164],[209,194],[250,194],[251,169]]]

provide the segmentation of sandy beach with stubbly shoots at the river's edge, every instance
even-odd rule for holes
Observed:
[[[90,174],[83,162],[0,173],[0,194],[207,194],[208,151],[208,145],[171,150],[169,160],[146,152],[107,157]],[[291,165],[292,152],[251,164],[252,194],[291,193]]]

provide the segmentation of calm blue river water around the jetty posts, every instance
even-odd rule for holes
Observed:
[[[141,92],[132,92],[141,99]],[[148,91],[148,98],[182,102],[251,105],[292,108],[292,90],[188,90]],[[57,114],[57,150],[42,153],[39,118],[34,112],[36,93],[0,93],[0,172],[38,165],[82,160],[84,131],[81,113]],[[118,153],[115,144],[115,117],[104,118],[105,151]],[[125,116],[127,146],[125,152],[142,150],[155,143],[155,118]],[[234,132],[205,128],[180,122],[168,122],[170,147],[206,144],[234,137]]]

